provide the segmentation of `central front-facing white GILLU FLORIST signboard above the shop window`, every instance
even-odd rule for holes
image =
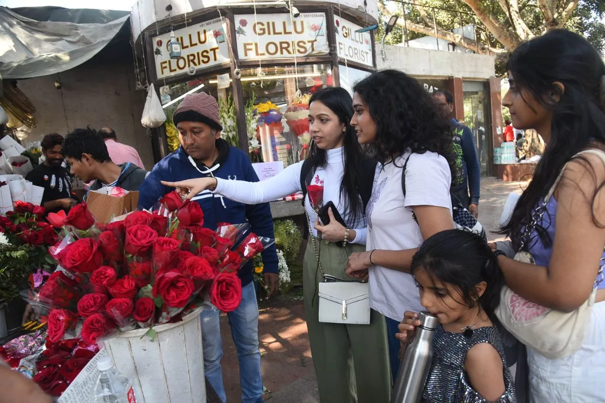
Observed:
[[[240,59],[303,57],[329,52],[325,13],[235,16]]]

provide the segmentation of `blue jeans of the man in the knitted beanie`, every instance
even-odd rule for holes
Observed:
[[[258,349],[258,304],[254,284],[251,282],[241,290],[241,303],[227,314],[231,336],[240,362],[240,385],[242,403],[262,403],[263,379],[261,376],[261,353]],[[201,312],[201,334],[204,350],[204,373],[221,401],[227,396],[223,385],[221,358],[220,311],[208,303]]]

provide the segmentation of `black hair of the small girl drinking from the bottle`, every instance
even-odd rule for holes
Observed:
[[[414,254],[411,274],[424,269],[431,279],[453,285],[469,308],[480,305],[493,321],[505,285],[498,260],[483,238],[464,230],[446,230],[425,240]],[[485,282],[485,291],[477,295],[475,286]],[[456,298],[458,295],[450,295]]]

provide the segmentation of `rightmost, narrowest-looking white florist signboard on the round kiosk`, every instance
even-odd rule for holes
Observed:
[[[361,28],[339,16],[334,16],[338,57],[373,67],[371,36],[367,32],[355,32]]]

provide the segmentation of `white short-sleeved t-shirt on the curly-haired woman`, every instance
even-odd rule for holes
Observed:
[[[367,250],[406,250],[422,244],[422,233],[412,218],[412,207],[433,205],[451,212],[451,173],[448,162],[437,153],[412,154],[405,171],[405,193],[401,174],[409,152],[394,163],[377,167],[368,207]],[[370,306],[388,318],[401,321],[405,311],[422,311],[411,274],[382,266],[370,268]]]

